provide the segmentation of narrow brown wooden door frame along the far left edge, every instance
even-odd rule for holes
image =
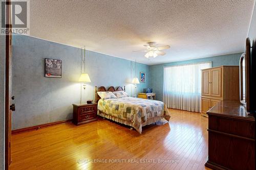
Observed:
[[[6,1],[7,3],[11,4],[11,1]],[[11,17],[11,6],[9,8],[6,8],[6,20],[10,20]],[[9,22],[11,23],[11,22]],[[9,29],[12,27],[10,26]],[[5,35],[5,169],[9,169],[10,165],[10,157],[9,157],[9,152],[10,151],[10,135],[11,135],[11,130],[9,130],[10,127],[10,119],[9,119],[9,114],[10,114],[10,89],[11,89],[11,84],[10,84],[10,69],[11,69],[11,34],[6,34]]]

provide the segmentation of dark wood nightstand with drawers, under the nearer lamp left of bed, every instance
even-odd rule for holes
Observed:
[[[97,103],[73,104],[73,123],[75,125],[87,124],[97,120]]]

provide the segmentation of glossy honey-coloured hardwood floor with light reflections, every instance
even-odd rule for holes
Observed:
[[[170,113],[169,124],[143,127],[142,134],[100,118],[12,135],[10,169],[208,169],[208,119],[200,113]]]

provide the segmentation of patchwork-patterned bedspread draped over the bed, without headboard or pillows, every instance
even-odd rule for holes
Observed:
[[[163,102],[140,98],[100,99],[98,110],[110,116],[132,122],[141,133],[141,126],[149,118],[164,117],[169,121],[169,112]],[[166,118],[167,117],[167,118]]]

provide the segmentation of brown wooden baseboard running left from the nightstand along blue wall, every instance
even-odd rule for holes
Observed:
[[[42,128],[47,128],[47,127],[55,126],[55,125],[59,125],[59,124],[70,123],[70,122],[72,122],[72,120],[73,119],[61,120],[59,122],[53,122],[53,123],[48,123],[48,124],[32,126],[32,127],[28,127],[28,128],[16,129],[16,130],[12,130],[12,135],[19,134],[19,133],[24,133],[24,132],[29,132],[29,131],[34,131],[34,130],[38,130],[38,129],[42,129]]]

